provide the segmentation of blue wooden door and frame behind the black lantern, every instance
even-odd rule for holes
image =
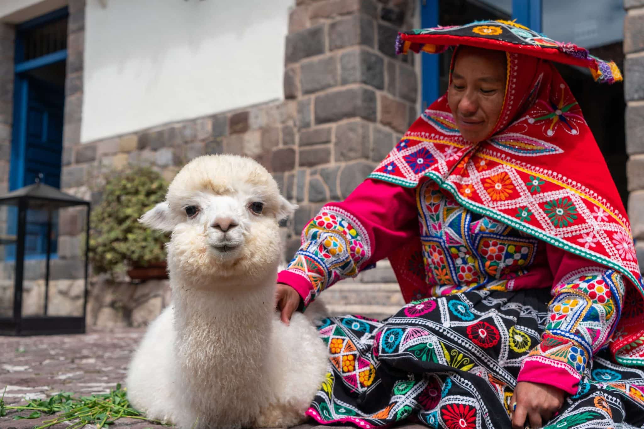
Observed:
[[[10,190],[39,177],[47,185],[61,185],[67,17],[67,8],[62,8],[16,27]],[[7,220],[11,235],[17,210],[9,210]],[[28,211],[26,259],[46,258],[48,242],[50,257],[56,257],[57,219],[52,222],[48,231],[48,214]],[[6,247],[5,259],[15,259],[15,246]]]

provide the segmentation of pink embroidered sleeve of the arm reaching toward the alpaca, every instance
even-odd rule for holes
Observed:
[[[324,289],[417,237],[417,219],[415,189],[366,179],[307,224],[302,245],[278,282],[296,289],[306,307]]]

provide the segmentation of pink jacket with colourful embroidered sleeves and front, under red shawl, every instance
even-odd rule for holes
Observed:
[[[345,201],[324,206],[303,230],[301,248],[278,282],[296,289],[306,307],[324,289],[412,240],[421,241],[423,257],[410,260],[409,269],[424,270],[427,285],[403,290],[407,301],[475,288],[551,288],[542,343],[525,358],[518,381],[577,392],[587,364],[617,325],[622,275],[474,214],[429,179],[416,188],[367,179]],[[571,311],[580,304],[594,311]],[[567,363],[548,357],[549,336],[571,343]]]

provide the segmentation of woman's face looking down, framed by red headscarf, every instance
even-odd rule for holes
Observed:
[[[448,104],[465,140],[478,142],[497,124],[506,91],[506,53],[462,46],[457,51]]]

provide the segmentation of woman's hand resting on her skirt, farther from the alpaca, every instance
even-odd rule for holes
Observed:
[[[516,403],[512,414],[513,429],[524,429],[528,423],[533,429],[542,427],[564,405],[564,390],[551,385],[519,381],[510,406]]]

